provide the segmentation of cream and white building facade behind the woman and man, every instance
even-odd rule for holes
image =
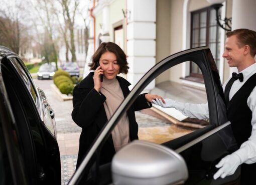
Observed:
[[[167,56],[207,45],[223,83],[235,69],[230,69],[222,58],[226,31],[217,25],[216,12],[211,6],[215,3],[223,5],[219,10],[222,19],[232,17],[232,30],[248,28],[256,31],[252,20],[256,8],[253,0],[91,1],[91,42],[86,63],[101,42],[115,42],[127,55],[130,70],[124,77],[133,87]],[[84,71],[85,76],[88,69]],[[166,79],[203,89],[202,78],[199,68],[188,61],[166,71],[146,89],[153,89]]]

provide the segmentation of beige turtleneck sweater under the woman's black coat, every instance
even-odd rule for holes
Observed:
[[[104,108],[107,120],[109,120],[124,99],[122,90],[116,78],[108,80],[103,77],[100,92],[106,97]],[[111,134],[116,152],[130,141],[129,119],[126,113],[118,121]]]

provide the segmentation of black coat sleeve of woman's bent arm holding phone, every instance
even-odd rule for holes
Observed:
[[[94,88],[79,89],[76,86],[73,90],[72,119],[82,128],[90,126],[105,100],[106,97]]]

